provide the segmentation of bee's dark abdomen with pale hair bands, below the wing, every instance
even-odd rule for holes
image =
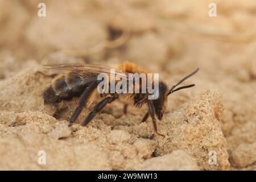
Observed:
[[[82,80],[77,72],[60,74],[52,80],[51,86],[44,91],[44,103],[53,104],[62,100],[71,100],[73,97],[80,96],[86,85],[88,84]]]

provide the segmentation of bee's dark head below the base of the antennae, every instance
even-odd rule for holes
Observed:
[[[166,104],[167,104],[167,85],[165,82],[160,81],[159,82],[159,95],[156,100],[152,100],[154,108],[155,108],[155,114],[158,117],[159,120],[162,119],[163,113],[166,110]]]

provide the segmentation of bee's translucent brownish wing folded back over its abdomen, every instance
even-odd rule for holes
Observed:
[[[101,64],[48,64],[43,65],[45,69],[58,69],[65,71],[85,72],[85,73],[105,73],[109,76],[117,76],[127,79],[127,73],[122,72],[114,67]],[[113,72],[114,71],[114,72]],[[122,73],[122,74],[120,74]],[[125,75],[123,75],[125,74]]]

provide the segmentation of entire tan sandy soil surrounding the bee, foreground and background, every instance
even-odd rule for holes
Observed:
[[[256,169],[254,0],[215,1],[214,18],[208,0],[46,0],[41,18],[39,2],[0,0],[0,169]],[[200,67],[168,98],[166,137],[140,122],[146,107],[116,101],[82,127],[90,107],[68,127],[76,99],[44,105],[42,64],[123,60],[169,86]]]

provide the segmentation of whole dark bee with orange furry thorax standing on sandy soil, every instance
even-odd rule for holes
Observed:
[[[110,67],[99,64],[52,64],[45,66],[47,69],[63,70],[65,73],[54,75],[51,85],[43,92],[44,104],[56,104],[61,101],[72,100],[74,97],[79,97],[79,105],[76,107],[76,110],[73,112],[73,115],[69,119],[69,126],[71,126],[76,121],[82,109],[88,107],[92,103],[94,96],[99,94],[97,92],[97,86],[100,84],[101,80],[98,80],[97,77],[100,73],[105,73],[108,76],[112,76],[111,69],[115,69],[115,76],[117,76],[118,73],[123,73],[126,76],[129,75],[129,73],[148,74],[147,69],[139,67],[138,65],[129,61],[125,61],[118,67]],[[82,126],[88,125],[94,116],[99,113],[107,104],[110,104],[111,102],[118,99],[125,103],[131,101],[137,108],[141,108],[143,105],[147,105],[148,110],[144,115],[142,122],[146,121],[150,116],[154,125],[155,133],[162,135],[158,133],[158,126],[156,123],[155,115],[159,120],[163,118],[163,113],[166,110],[167,105],[167,97],[171,93],[195,86],[195,84],[191,84],[176,88],[181,84],[181,82],[195,75],[197,71],[199,71],[199,68],[182,78],[170,89],[168,89],[166,82],[159,80],[159,94],[158,98],[155,100],[148,99],[148,96],[150,95],[148,92],[112,92],[107,94],[101,93],[100,97],[102,97],[102,100],[93,107],[93,110],[85,118]],[[129,77],[126,77],[126,79],[129,80]],[[117,82],[115,82],[115,84],[117,84]],[[142,84],[139,84],[139,88],[141,87]]]

